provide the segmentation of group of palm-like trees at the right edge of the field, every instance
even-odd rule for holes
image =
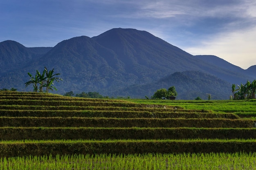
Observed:
[[[236,84],[232,84],[232,93],[234,99],[255,99],[256,80],[254,80],[253,82],[250,82],[248,80],[246,84],[241,83],[240,86],[237,86],[238,89],[236,89]]]

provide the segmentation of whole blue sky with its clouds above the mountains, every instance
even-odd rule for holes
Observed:
[[[246,69],[256,65],[255,9],[255,0],[2,0],[0,42],[55,46],[133,28]]]

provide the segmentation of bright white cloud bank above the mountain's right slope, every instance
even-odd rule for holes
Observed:
[[[220,33],[199,46],[184,47],[193,55],[216,55],[236,66],[247,69],[256,65],[256,27],[232,33]]]

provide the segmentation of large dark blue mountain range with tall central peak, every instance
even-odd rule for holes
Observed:
[[[209,60],[210,56],[193,56],[146,31],[136,29],[111,29],[92,38],[75,37],[53,48],[27,48],[17,42],[5,46],[9,53],[1,51],[1,62],[7,58],[12,60],[7,64],[8,71],[0,71],[0,89],[14,87],[31,91],[32,87],[24,86],[29,80],[27,72],[34,75],[36,70],[43,71],[44,66],[61,73],[63,81],[54,84],[58,88],[56,93],[60,94],[97,91],[105,96],[143,98],[153,95],[157,88],[177,84],[180,86],[176,87],[180,99],[193,99],[197,94],[204,93],[214,94],[215,99],[223,99],[223,95],[228,99],[230,84],[253,79],[247,71],[236,69],[236,66],[216,56],[211,57],[214,60]],[[1,49],[5,50],[0,46]],[[13,65],[12,69],[10,65]],[[180,84],[177,83],[179,81]],[[216,89],[222,94],[210,88],[217,82],[218,88],[225,89]],[[194,88],[195,93],[191,93],[191,97],[186,96],[188,89],[182,87],[186,84]],[[211,91],[203,91],[201,85]],[[133,91],[129,90],[131,87]]]

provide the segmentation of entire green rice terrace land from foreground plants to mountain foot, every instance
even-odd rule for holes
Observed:
[[[0,170],[254,170],[255,108],[0,91]]]

